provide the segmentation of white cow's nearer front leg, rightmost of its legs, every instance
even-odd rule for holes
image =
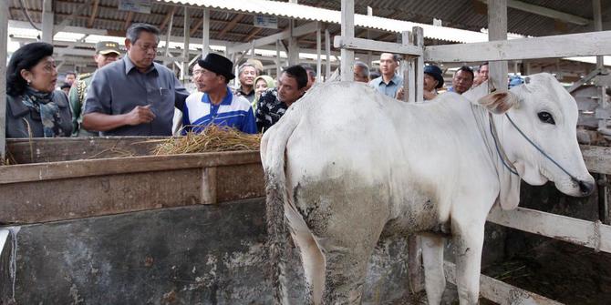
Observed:
[[[480,272],[485,217],[452,219],[456,253],[456,284],[461,305],[477,304],[480,297]]]

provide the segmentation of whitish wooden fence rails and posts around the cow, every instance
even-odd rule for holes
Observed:
[[[390,52],[407,56],[404,70],[404,86],[408,88],[406,100],[422,101],[424,62],[465,63],[490,61],[490,81],[495,88],[505,88],[508,72],[507,60],[570,56],[611,55],[611,31],[602,31],[600,2],[595,0],[595,30],[598,32],[544,36],[523,39],[507,39],[507,0],[488,1],[489,42],[446,46],[423,46],[422,29],[402,32],[402,43],[387,43],[354,37],[354,0],[342,0],[342,36],[336,36],[335,47],[341,48],[342,80],[353,80],[354,51]],[[604,68],[604,67],[603,67]],[[604,98],[603,98],[604,99]],[[611,175],[611,149],[606,147],[582,147],[585,163],[590,172]],[[603,194],[602,196],[606,196]],[[608,212],[608,211],[607,211]],[[586,221],[554,215],[529,208],[503,211],[492,208],[488,221],[504,227],[520,229],[552,239],[564,240],[576,245],[611,253],[611,226],[600,221]],[[419,262],[415,238],[409,241],[410,290],[422,290],[422,274],[414,262]],[[445,263],[447,280],[455,283],[454,265]],[[533,292],[482,275],[481,296],[500,304],[559,304]]]

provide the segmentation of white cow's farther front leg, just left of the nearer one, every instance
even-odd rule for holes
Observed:
[[[427,300],[430,305],[440,304],[446,288],[446,278],[443,273],[444,238],[433,234],[423,234],[421,238]]]

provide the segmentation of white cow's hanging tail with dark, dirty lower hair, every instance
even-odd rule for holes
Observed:
[[[290,110],[296,110],[295,108]],[[288,227],[285,218],[285,202],[288,202],[285,174],[285,149],[298,119],[295,111],[287,111],[285,117],[265,133],[261,141],[261,159],[265,171],[267,244],[269,258],[268,278],[274,288],[274,302],[286,304],[288,289],[285,267],[289,247]]]

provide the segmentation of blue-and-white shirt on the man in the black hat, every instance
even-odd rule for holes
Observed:
[[[234,95],[229,87],[219,105],[212,104],[210,96],[203,92],[192,93],[185,103],[182,124],[182,134],[188,131],[202,132],[210,124],[234,127],[247,134],[257,132],[250,103],[246,98]]]

